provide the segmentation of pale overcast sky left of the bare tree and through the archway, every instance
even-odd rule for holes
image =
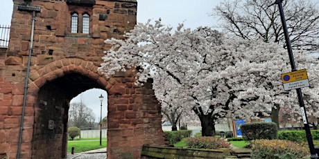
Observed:
[[[198,26],[216,25],[214,17],[209,13],[221,0],[137,0],[137,22],[145,23],[148,19],[162,19],[162,24],[177,27],[184,23],[185,28],[197,28]],[[1,0],[0,5],[0,25],[10,25],[13,3],[12,0]],[[92,89],[78,95],[71,102],[82,101],[96,115],[96,121],[100,120],[101,102],[98,100],[100,95],[103,100],[102,118],[107,115],[107,93],[101,89]]]

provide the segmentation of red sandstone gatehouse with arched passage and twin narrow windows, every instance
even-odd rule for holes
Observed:
[[[135,86],[135,72],[97,71],[104,40],[137,23],[136,0],[13,3],[10,44],[0,50],[0,158],[64,158],[69,102],[90,88],[108,95],[107,158],[164,144],[152,81]]]

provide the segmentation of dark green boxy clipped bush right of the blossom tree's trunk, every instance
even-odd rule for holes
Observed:
[[[252,122],[241,124],[241,134],[245,140],[275,139],[277,138],[277,124],[275,122]]]

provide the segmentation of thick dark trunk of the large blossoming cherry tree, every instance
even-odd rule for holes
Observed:
[[[215,120],[212,115],[199,115],[202,126],[202,136],[215,136]]]

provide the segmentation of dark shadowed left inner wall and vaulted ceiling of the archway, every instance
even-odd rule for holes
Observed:
[[[40,88],[35,102],[33,158],[66,156],[69,101],[88,88],[102,86],[77,73],[59,77]]]

